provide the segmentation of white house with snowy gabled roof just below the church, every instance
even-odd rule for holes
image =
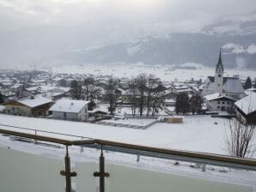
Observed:
[[[235,100],[221,93],[204,96],[209,111],[232,111]]]

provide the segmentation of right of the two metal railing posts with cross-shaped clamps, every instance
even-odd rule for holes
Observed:
[[[109,173],[105,172],[105,158],[103,156],[103,150],[101,146],[101,156],[100,156],[100,171],[94,172],[94,177],[100,177],[100,192],[105,191],[105,177],[109,177]]]

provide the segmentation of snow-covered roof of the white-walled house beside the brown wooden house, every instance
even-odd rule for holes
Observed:
[[[52,105],[49,111],[77,113],[82,110],[84,105],[88,105],[89,102],[87,100],[60,99],[56,104]]]

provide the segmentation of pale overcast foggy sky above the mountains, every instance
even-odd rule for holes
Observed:
[[[255,0],[0,0],[0,64],[145,35],[197,33],[255,8]]]

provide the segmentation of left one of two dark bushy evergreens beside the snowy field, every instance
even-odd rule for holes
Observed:
[[[182,112],[183,114],[186,114],[187,112],[189,112],[189,97],[187,93],[179,93],[177,95],[177,99],[176,99],[176,105],[175,105],[175,110],[176,113],[179,114],[180,112]]]

